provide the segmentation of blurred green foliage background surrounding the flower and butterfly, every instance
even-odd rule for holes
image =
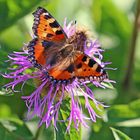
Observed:
[[[76,19],[99,39],[105,49],[104,61],[117,68],[108,71],[110,79],[116,81],[114,89],[94,91],[96,98],[110,107],[103,119],[97,119],[89,129],[83,128],[83,140],[113,140],[110,127],[139,140],[140,20],[135,20],[136,13],[140,19],[139,5],[140,0],[0,0],[0,73],[8,72],[7,55],[21,51],[23,43],[31,40],[32,12],[38,6],[46,8],[61,25],[65,17],[68,21]],[[48,135],[53,139],[52,127],[40,135],[37,120],[25,120],[27,108],[21,94],[9,95],[2,87],[8,81],[0,77],[0,140],[44,140]],[[29,84],[25,87],[26,93],[33,90]]]

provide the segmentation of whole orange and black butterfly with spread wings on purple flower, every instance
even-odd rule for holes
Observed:
[[[87,35],[75,31],[68,37],[55,18],[44,8],[33,13],[35,38],[27,46],[28,59],[34,67],[45,69],[46,75],[55,83],[80,81],[103,81],[107,73],[93,58],[84,53]]]

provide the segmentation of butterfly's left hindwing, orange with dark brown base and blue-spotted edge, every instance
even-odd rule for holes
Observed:
[[[55,44],[37,38],[29,42],[28,58],[35,67],[54,65],[57,61],[56,54],[61,43]]]

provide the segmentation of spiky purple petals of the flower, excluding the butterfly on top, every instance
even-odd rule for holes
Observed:
[[[64,31],[68,37],[71,37],[76,32],[76,27],[73,22],[66,25],[66,20],[64,22]],[[25,47],[24,47],[25,48]],[[88,39],[84,45],[84,53],[90,56],[92,59],[98,61],[98,63],[104,67],[106,63],[102,61],[102,52],[100,44],[97,40]],[[16,92],[16,85],[22,83],[24,84],[28,80],[37,81],[36,90],[31,93],[29,96],[22,96],[22,99],[25,100],[28,107],[28,118],[31,119],[34,116],[40,118],[40,123],[46,124],[46,127],[50,125],[53,121],[55,128],[57,128],[57,121],[59,121],[59,110],[61,108],[62,101],[65,98],[70,98],[70,113],[66,121],[68,126],[67,130],[70,129],[71,123],[74,122],[74,126],[78,129],[79,124],[81,123],[85,127],[87,126],[86,120],[92,120],[96,122],[96,117],[99,117],[94,111],[91,102],[99,109],[99,106],[104,105],[98,102],[94,98],[94,93],[88,86],[89,83],[93,84],[96,87],[105,88],[102,84],[103,82],[112,82],[108,77],[103,77],[103,80],[100,81],[98,77],[94,79],[87,79],[86,81],[78,80],[75,78],[70,83],[60,82],[54,84],[51,81],[50,77],[47,75],[46,69],[36,69],[28,59],[28,51],[23,49],[23,52],[14,52],[8,57],[11,61],[11,73],[4,74],[3,76],[8,79],[12,79],[12,82],[5,85],[6,88],[12,88]],[[27,72],[30,70],[32,72]],[[79,96],[83,96],[85,99],[85,106],[83,107],[80,103]],[[83,109],[87,109],[89,115],[84,115]]]

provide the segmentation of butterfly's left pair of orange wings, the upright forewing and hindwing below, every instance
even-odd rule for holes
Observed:
[[[38,7],[33,15],[33,32],[37,38],[30,41],[27,46],[28,58],[35,67],[41,68],[47,63],[48,48],[55,43],[57,43],[55,46],[60,47],[67,36],[58,22],[44,8]]]

